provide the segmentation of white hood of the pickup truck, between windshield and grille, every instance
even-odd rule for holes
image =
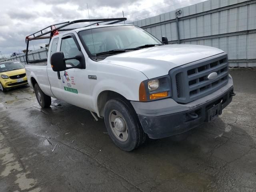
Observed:
[[[116,54],[101,62],[139,70],[151,79],[167,75],[170,69],[177,66],[223,52],[209,46],[172,44]]]

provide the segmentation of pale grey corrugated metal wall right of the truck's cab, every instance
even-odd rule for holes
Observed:
[[[159,40],[166,36],[172,44],[220,48],[228,53],[232,67],[256,67],[256,0],[208,0],[178,10],[132,24]]]

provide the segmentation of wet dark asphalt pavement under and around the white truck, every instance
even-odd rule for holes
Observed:
[[[230,73],[236,96],[219,118],[133,152],[82,108],[0,92],[0,192],[255,192],[256,71]]]

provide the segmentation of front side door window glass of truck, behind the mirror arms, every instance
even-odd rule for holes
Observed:
[[[72,58],[80,54],[76,43],[72,37],[62,39],[60,51],[64,53],[64,58]],[[69,66],[78,66],[79,61],[76,59],[66,60],[67,67]]]

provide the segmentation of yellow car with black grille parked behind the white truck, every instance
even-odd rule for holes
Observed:
[[[19,61],[0,62],[0,90],[28,84],[25,66]]]

